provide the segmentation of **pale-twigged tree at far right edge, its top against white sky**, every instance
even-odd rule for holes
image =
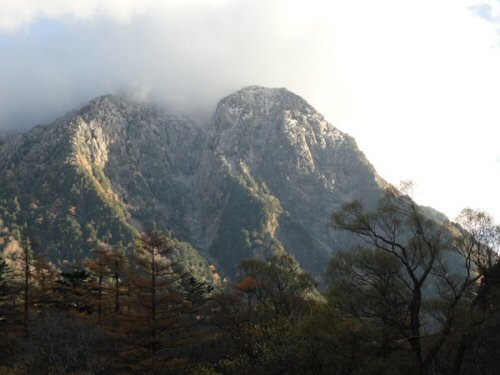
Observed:
[[[500,327],[500,226],[487,213],[466,208],[458,216],[455,229],[459,233],[454,237],[456,248],[466,260],[464,268],[472,274],[475,287],[468,295],[470,306],[460,321],[462,329],[454,348],[452,366],[459,374],[466,358],[469,366],[474,363],[491,369],[498,365],[492,360],[499,354],[494,349],[497,335],[491,332]],[[478,358],[479,352],[482,358]]]

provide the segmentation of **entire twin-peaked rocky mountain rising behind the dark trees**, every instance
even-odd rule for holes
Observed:
[[[88,239],[129,243],[155,223],[186,267],[229,276],[241,259],[291,253],[320,275],[353,240],[329,229],[351,199],[378,201],[386,182],[349,135],[304,99],[244,88],[208,126],[103,96],[0,143],[0,218],[24,225],[53,260],[88,255]]]

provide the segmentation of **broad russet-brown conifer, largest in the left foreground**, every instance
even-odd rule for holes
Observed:
[[[185,275],[170,258],[174,247],[175,241],[153,229],[141,235],[131,254],[129,296],[120,316],[126,332],[123,349],[136,371],[148,367],[154,373],[188,340],[184,319],[189,304],[179,289]]]

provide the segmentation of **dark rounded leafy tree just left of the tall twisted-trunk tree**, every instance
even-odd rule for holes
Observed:
[[[371,341],[377,343],[374,358],[387,359],[401,349],[411,294],[397,258],[366,247],[340,251],[330,262],[326,279],[331,285],[329,305],[367,327]]]

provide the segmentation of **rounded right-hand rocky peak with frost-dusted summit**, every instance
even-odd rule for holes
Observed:
[[[222,99],[210,132],[207,185],[221,185],[221,174],[235,181],[251,178],[256,194],[274,202],[267,205],[267,232],[315,274],[332,249],[353,240],[329,229],[331,212],[352,199],[374,203],[386,185],[352,137],[284,88],[251,86]],[[245,214],[240,209],[229,215],[226,221],[234,223]]]

